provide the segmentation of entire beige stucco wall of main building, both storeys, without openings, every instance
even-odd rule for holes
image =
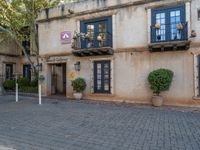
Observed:
[[[102,0],[103,1],[103,0]],[[86,1],[73,3],[65,6],[63,18],[52,19],[61,14],[61,6],[49,10],[49,19],[43,11],[38,18],[40,55],[48,58],[52,55],[67,56],[67,74],[74,70],[74,64],[81,62],[81,71],[76,72],[76,77],[86,79],[87,89],[84,92],[85,98],[109,99],[129,102],[149,103],[152,91],[149,89],[147,76],[149,72],[158,68],[168,68],[174,71],[174,79],[169,91],[164,92],[166,104],[195,105],[200,102],[194,101],[194,56],[193,53],[200,51],[199,47],[190,48],[187,51],[171,51],[150,53],[147,49],[149,29],[151,22],[151,9],[163,5],[175,5],[180,0],[163,0],[143,5],[132,5],[134,0],[113,0]],[[200,0],[182,0],[186,3],[186,20],[188,21],[189,32],[195,30],[197,37],[190,39],[193,43],[200,43],[200,21],[197,20],[197,8]],[[139,1],[138,1],[139,2]],[[117,4],[131,4],[127,7],[103,10],[109,6]],[[67,9],[74,10],[75,14],[69,15]],[[102,9],[102,11],[100,11]],[[95,12],[95,10],[97,12]],[[94,11],[85,13],[87,11]],[[98,12],[99,11],[99,12]],[[81,15],[80,12],[84,12]],[[77,13],[80,13],[76,15]],[[114,55],[111,57],[74,57],[71,55],[71,44],[61,44],[60,33],[80,29],[80,21],[85,19],[98,18],[102,16],[112,16],[113,20],[113,48]],[[190,36],[190,33],[188,33]],[[142,50],[138,50],[142,48]],[[127,50],[129,49],[129,50]],[[138,50],[138,51],[137,51]],[[136,52],[137,51],[137,52]],[[92,59],[109,59],[113,62],[113,93],[108,95],[92,94]],[[48,64],[43,60],[44,70],[41,74],[47,77],[43,84],[43,93],[50,93]],[[67,96],[72,96],[71,81],[67,79]]]

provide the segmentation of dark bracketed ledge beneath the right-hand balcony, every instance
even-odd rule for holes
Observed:
[[[151,52],[160,51],[178,51],[188,50],[190,48],[190,40],[185,41],[170,41],[170,42],[157,42],[148,45]]]

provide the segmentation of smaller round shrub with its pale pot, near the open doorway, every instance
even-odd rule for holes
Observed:
[[[76,78],[72,81],[73,96],[75,99],[80,100],[83,97],[83,91],[86,88],[86,82],[83,78]]]

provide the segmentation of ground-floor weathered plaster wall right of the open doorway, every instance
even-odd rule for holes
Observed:
[[[109,59],[108,57],[105,57]],[[149,103],[152,91],[149,88],[147,77],[149,72],[158,68],[168,68],[174,72],[174,79],[169,91],[163,92],[166,104],[192,105],[194,96],[193,84],[193,55],[190,52],[128,52],[116,53],[113,56],[114,93],[108,100],[119,100],[128,102]],[[99,58],[99,59],[102,59]],[[73,70],[76,58],[68,61],[68,71]],[[78,59],[81,62],[81,71],[76,72],[76,77],[84,77],[87,82],[87,89],[84,92],[85,98],[104,99],[103,95],[92,96],[91,92],[91,66],[89,58]],[[71,81],[67,82],[67,95],[72,96]],[[114,98],[113,98],[114,97]]]

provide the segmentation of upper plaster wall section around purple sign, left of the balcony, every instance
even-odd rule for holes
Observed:
[[[74,19],[63,19],[39,25],[40,55],[50,55],[71,52],[71,44],[62,44],[60,33],[76,30]]]

